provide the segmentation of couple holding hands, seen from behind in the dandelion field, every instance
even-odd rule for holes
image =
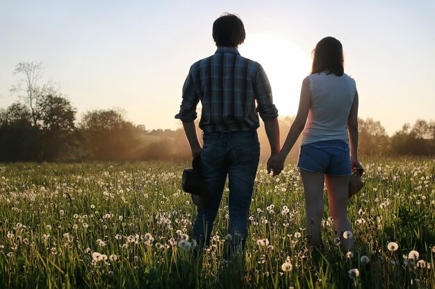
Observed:
[[[297,116],[280,148],[278,111],[268,77],[261,64],[238,52],[245,40],[243,22],[225,13],[213,23],[213,40],[215,54],[190,67],[175,116],[183,122],[192,157],[200,156],[197,159],[208,191],[208,202],[197,208],[193,238],[199,245],[210,242],[228,177],[228,233],[233,236],[234,249],[245,246],[260,157],[256,132],[260,117],[271,148],[268,172],[273,175],[281,173],[288,152],[302,133],[297,166],[304,186],[307,245],[320,248],[322,243],[325,182],[336,237],[343,250],[352,251],[353,238],[341,237],[345,231],[352,232],[347,216],[350,175],[352,170],[362,173],[363,169],[358,160],[358,92],[355,81],[344,73],[343,46],[334,37],[325,37],[315,46],[311,73],[302,82]],[[203,148],[194,122],[199,101]]]

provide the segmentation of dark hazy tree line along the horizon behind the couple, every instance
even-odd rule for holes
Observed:
[[[24,76],[11,87],[19,100],[0,108],[0,161],[122,161],[190,159],[180,126],[177,130],[146,130],[126,121],[120,110],[92,110],[76,119],[76,108],[54,89],[40,85],[41,63],[20,62],[15,74]],[[279,120],[284,141],[293,117]],[[199,135],[200,132],[199,132]],[[258,130],[262,158],[268,157],[267,136]],[[418,120],[388,137],[379,121],[359,120],[361,155],[435,155],[435,122]],[[290,152],[297,159],[298,145]]]

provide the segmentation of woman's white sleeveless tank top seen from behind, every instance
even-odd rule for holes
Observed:
[[[307,76],[311,107],[301,146],[315,141],[340,140],[349,143],[347,119],[354,101],[356,84],[347,74],[315,73]]]

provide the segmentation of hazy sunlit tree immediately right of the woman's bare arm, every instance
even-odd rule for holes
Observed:
[[[359,119],[359,146],[361,155],[384,155],[389,150],[389,139],[379,121]]]

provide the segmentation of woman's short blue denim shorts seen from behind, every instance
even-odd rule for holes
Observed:
[[[352,175],[349,145],[345,141],[317,141],[301,146],[297,166],[335,177]]]

